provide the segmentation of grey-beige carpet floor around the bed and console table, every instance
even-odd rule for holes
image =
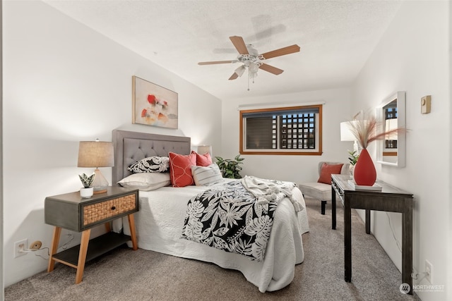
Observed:
[[[401,274],[352,210],[352,282],[344,281],[343,211],[331,230],[331,207],[306,199],[309,233],[304,262],[282,290],[260,293],[238,271],[215,264],[126,247],[88,262],[82,283],[75,269],[56,264],[5,289],[6,300],[419,300],[400,293]],[[401,254],[400,254],[401,256]]]

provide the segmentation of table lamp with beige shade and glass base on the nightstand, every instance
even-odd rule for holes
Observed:
[[[114,166],[113,143],[99,141],[81,141],[78,145],[78,167],[95,167],[93,182],[94,194],[107,192],[108,181],[99,167]]]

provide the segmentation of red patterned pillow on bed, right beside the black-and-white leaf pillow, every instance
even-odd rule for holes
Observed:
[[[196,165],[196,154],[176,154],[169,152],[169,176],[172,187],[194,185],[191,166]]]

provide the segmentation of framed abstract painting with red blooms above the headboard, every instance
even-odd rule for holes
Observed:
[[[132,76],[132,123],[177,128],[177,93]]]

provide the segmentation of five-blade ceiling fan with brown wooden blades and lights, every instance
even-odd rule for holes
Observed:
[[[242,66],[234,70],[230,80],[235,80],[239,76],[242,76],[246,69],[248,69],[248,78],[251,78],[254,82],[254,78],[257,76],[258,69],[265,70],[269,73],[279,75],[284,72],[279,68],[270,66],[263,63],[266,59],[272,59],[276,56],[284,56],[286,54],[293,54],[299,51],[299,46],[294,44],[292,46],[283,47],[273,51],[268,51],[263,54],[258,54],[258,51],[254,49],[253,45],[246,45],[242,37],[232,36],[229,37],[232,44],[234,44],[235,49],[239,51],[239,55],[236,60],[232,61],[204,61],[199,62],[198,65],[213,65],[218,63],[243,63]],[[248,87],[249,90],[249,87]]]

